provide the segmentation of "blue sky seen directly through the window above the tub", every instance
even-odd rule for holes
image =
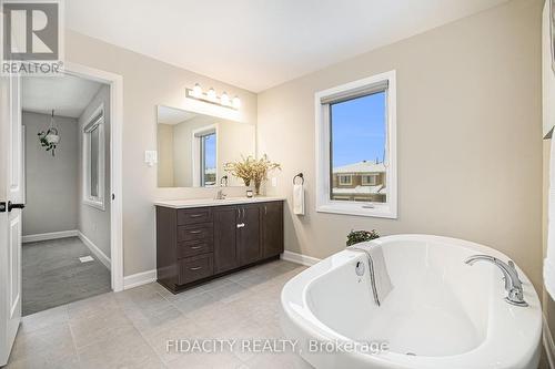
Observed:
[[[333,167],[383,161],[385,92],[332,104]]]

